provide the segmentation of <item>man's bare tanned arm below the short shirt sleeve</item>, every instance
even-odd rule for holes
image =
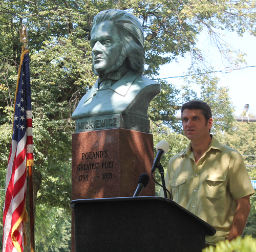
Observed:
[[[251,209],[250,195],[234,201],[237,204],[237,210],[234,213],[231,230],[227,238],[229,241],[242,235]]]

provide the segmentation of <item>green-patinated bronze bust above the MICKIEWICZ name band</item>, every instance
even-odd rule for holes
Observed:
[[[97,14],[91,29],[93,71],[99,76],[72,114],[82,119],[109,114],[147,118],[161,85],[143,77],[144,35],[138,19],[125,11]]]

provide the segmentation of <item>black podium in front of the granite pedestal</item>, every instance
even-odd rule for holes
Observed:
[[[201,252],[214,227],[166,198],[72,200],[75,251]]]

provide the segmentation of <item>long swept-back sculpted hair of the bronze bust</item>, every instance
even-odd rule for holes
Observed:
[[[119,28],[129,66],[133,70],[143,73],[145,62],[144,33],[139,20],[126,11],[105,10],[94,17],[92,28],[104,21],[113,21]]]

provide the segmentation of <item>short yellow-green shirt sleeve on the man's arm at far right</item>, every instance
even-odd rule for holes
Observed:
[[[230,157],[227,186],[234,200],[255,193],[240,153],[233,152]]]

